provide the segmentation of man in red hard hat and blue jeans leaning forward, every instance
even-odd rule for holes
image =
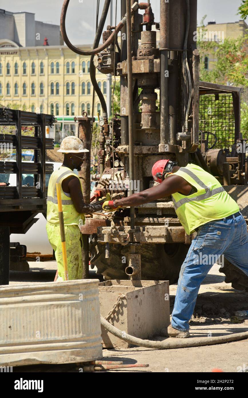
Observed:
[[[177,162],[159,160],[152,168],[152,175],[159,185],[123,199],[105,201],[103,209],[115,211],[172,195],[186,233],[197,232],[180,270],[167,334],[187,338],[200,285],[216,258],[223,254],[248,276],[246,222],[237,203],[219,181],[201,167],[195,164],[179,167]]]

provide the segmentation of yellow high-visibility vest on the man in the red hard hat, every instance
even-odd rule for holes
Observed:
[[[187,164],[172,175],[184,178],[197,189],[196,193],[188,196],[179,192],[172,194],[176,215],[188,235],[200,225],[223,219],[239,211],[237,203],[219,181],[201,167]]]

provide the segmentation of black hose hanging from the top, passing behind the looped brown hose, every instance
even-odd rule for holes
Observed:
[[[99,21],[99,25],[98,25],[97,32],[96,32],[96,35],[95,35],[93,48],[95,48],[95,47],[97,47],[99,45],[99,41],[101,39],[101,34],[102,34],[102,31],[103,31],[103,27],[105,25],[105,21],[106,21],[106,18],[107,18],[110,2],[111,2],[111,0],[105,0],[104,6],[103,6],[103,12],[102,12],[101,19]],[[95,77],[95,65],[93,63],[93,59],[94,59],[94,54],[91,55],[90,64],[89,64],[89,75],[90,75],[90,78],[91,78],[91,83],[92,83],[92,85],[93,85],[93,87],[95,89],[95,92],[98,95],[99,101],[101,103],[101,107],[102,107],[102,110],[103,110],[103,116],[104,117],[105,116],[108,117],[107,104],[106,104],[105,98],[103,96],[103,93],[101,92],[101,90],[100,90],[100,88],[99,88],[99,86],[97,84],[97,79]]]

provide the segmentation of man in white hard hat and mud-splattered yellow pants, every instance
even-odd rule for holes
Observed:
[[[60,183],[66,236],[68,277],[69,279],[81,279],[83,275],[83,245],[79,226],[85,222],[83,213],[101,211],[102,203],[84,203],[80,180],[73,172],[74,169],[77,171],[81,170],[84,153],[89,152],[84,148],[81,140],[74,136],[64,138],[58,152],[64,154],[64,162],[58,170],[55,170],[51,174],[47,193],[47,235],[58,264],[58,271],[54,280],[64,280],[56,183]]]

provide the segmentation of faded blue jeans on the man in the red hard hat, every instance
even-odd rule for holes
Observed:
[[[197,236],[182,264],[172,311],[173,328],[187,331],[194,312],[200,285],[221,255],[248,276],[248,232],[243,216],[207,222]]]

